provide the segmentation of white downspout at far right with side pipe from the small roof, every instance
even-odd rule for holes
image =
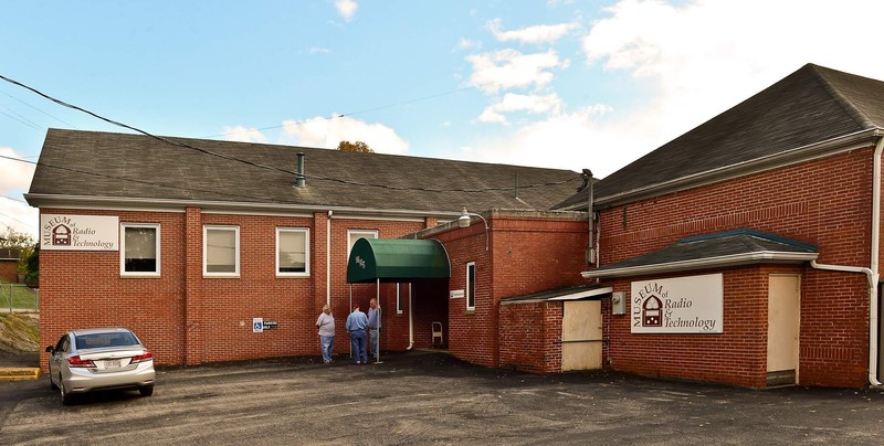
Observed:
[[[844,273],[863,273],[869,279],[869,383],[881,386],[877,380],[877,283],[878,283],[878,253],[881,240],[881,153],[884,151],[884,137],[878,137],[875,152],[872,157],[872,256],[870,267],[822,265],[812,261],[810,266],[817,269],[836,270]]]

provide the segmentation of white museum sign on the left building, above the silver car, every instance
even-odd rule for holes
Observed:
[[[103,215],[40,215],[40,248],[117,251],[119,219]]]

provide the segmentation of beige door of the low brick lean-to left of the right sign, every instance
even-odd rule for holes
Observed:
[[[561,319],[561,371],[601,369],[601,300],[568,300]]]

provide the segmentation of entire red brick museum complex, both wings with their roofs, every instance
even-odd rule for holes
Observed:
[[[323,304],[343,326],[378,296],[387,350],[440,322],[486,367],[878,384],[882,151],[884,83],[812,64],[577,193],[572,171],[50,130],[27,195],[41,337],[129,326],[159,363],[318,354]],[[90,225],[112,236],[84,246]],[[359,237],[435,241],[450,277],[350,280]]]

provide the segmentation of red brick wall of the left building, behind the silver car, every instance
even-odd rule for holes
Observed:
[[[377,230],[380,237],[398,237],[421,230],[427,221],[328,219],[326,213],[302,216],[230,215],[185,212],[110,212],[43,209],[43,213],[117,215],[120,223],[160,225],[161,275],[157,278],[120,277],[119,252],[41,252],[40,337],[54,344],[74,328],[124,326],[131,328],[154,352],[157,364],[201,363],[253,358],[319,354],[316,318],[330,289],[336,318],[335,351],[349,351],[345,320],[349,314],[346,284],[347,230]],[[326,255],[326,227],[330,222],[330,257]],[[240,276],[203,277],[202,226],[240,227]],[[311,231],[309,277],[276,277],[276,227]],[[332,274],[326,277],[326,265]],[[326,282],[330,287],[326,286]],[[408,347],[406,317],[396,315],[394,285],[382,284],[385,309],[381,348]],[[368,308],[375,285],[356,285],[354,300]],[[423,309],[422,309],[423,308]],[[438,302],[415,304],[418,315],[438,319]],[[252,318],[278,323],[252,332]],[[429,333],[429,323],[427,331]],[[46,367],[46,355],[41,367]]]

